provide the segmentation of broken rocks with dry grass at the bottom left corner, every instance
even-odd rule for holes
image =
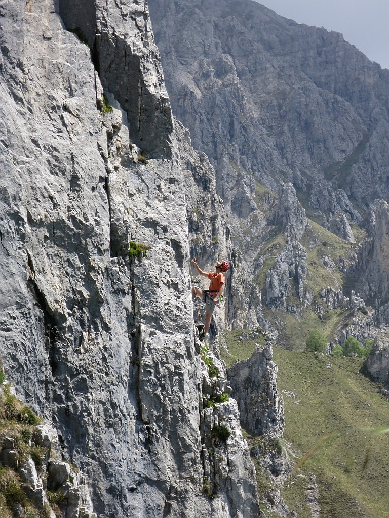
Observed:
[[[59,460],[57,432],[47,424],[38,424],[38,418],[6,383],[1,385],[0,407],[2,496],[7,489],[13,491],[13,498],[3,497],[3,512],[17,516],[38,513],[53,518],[55,513],[61,513],[71,518],[96,518],[85,474]],[[18,409],[22,409],[19,414]]]

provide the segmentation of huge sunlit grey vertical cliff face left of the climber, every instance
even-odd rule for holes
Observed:
[[[146,4],[92,7],[1,7],[0,354],[99,515],[239,516],[244,449],[217,505],[203,492],[183,167]]]

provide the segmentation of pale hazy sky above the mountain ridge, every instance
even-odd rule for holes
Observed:
[[[341,32],[367,57],[389,68],[389,0],[256,0],[298,23]]]

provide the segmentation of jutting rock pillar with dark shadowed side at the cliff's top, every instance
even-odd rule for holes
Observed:
[[[102,0],[59,0],[59,15],[66,29],[91,48],[104,90],[127,113],[130,139],[148,158],[171,158],[172,112],[147,7],[128,2],[113,9]],[[132,36],[145,45],[133,44]]]

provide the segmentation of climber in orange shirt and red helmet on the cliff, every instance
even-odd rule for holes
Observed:
[[[203,341],[211,325],[213,310],[225,289],[226,280],[223,272],[227,271],[230,265],[227,261],[218,261],[215,264],[215,271],[206,272],[199,267],[196,262],[196,257],[192,259],[192,263],[196,266],[200,275],[211,280],[210,287],[207,290],[201,290],[197,286],[193,286],[192,288],[192,299],[194,300],[196,295],[198,295],[205,303],[205,326],[199,337],[200,341]]]

